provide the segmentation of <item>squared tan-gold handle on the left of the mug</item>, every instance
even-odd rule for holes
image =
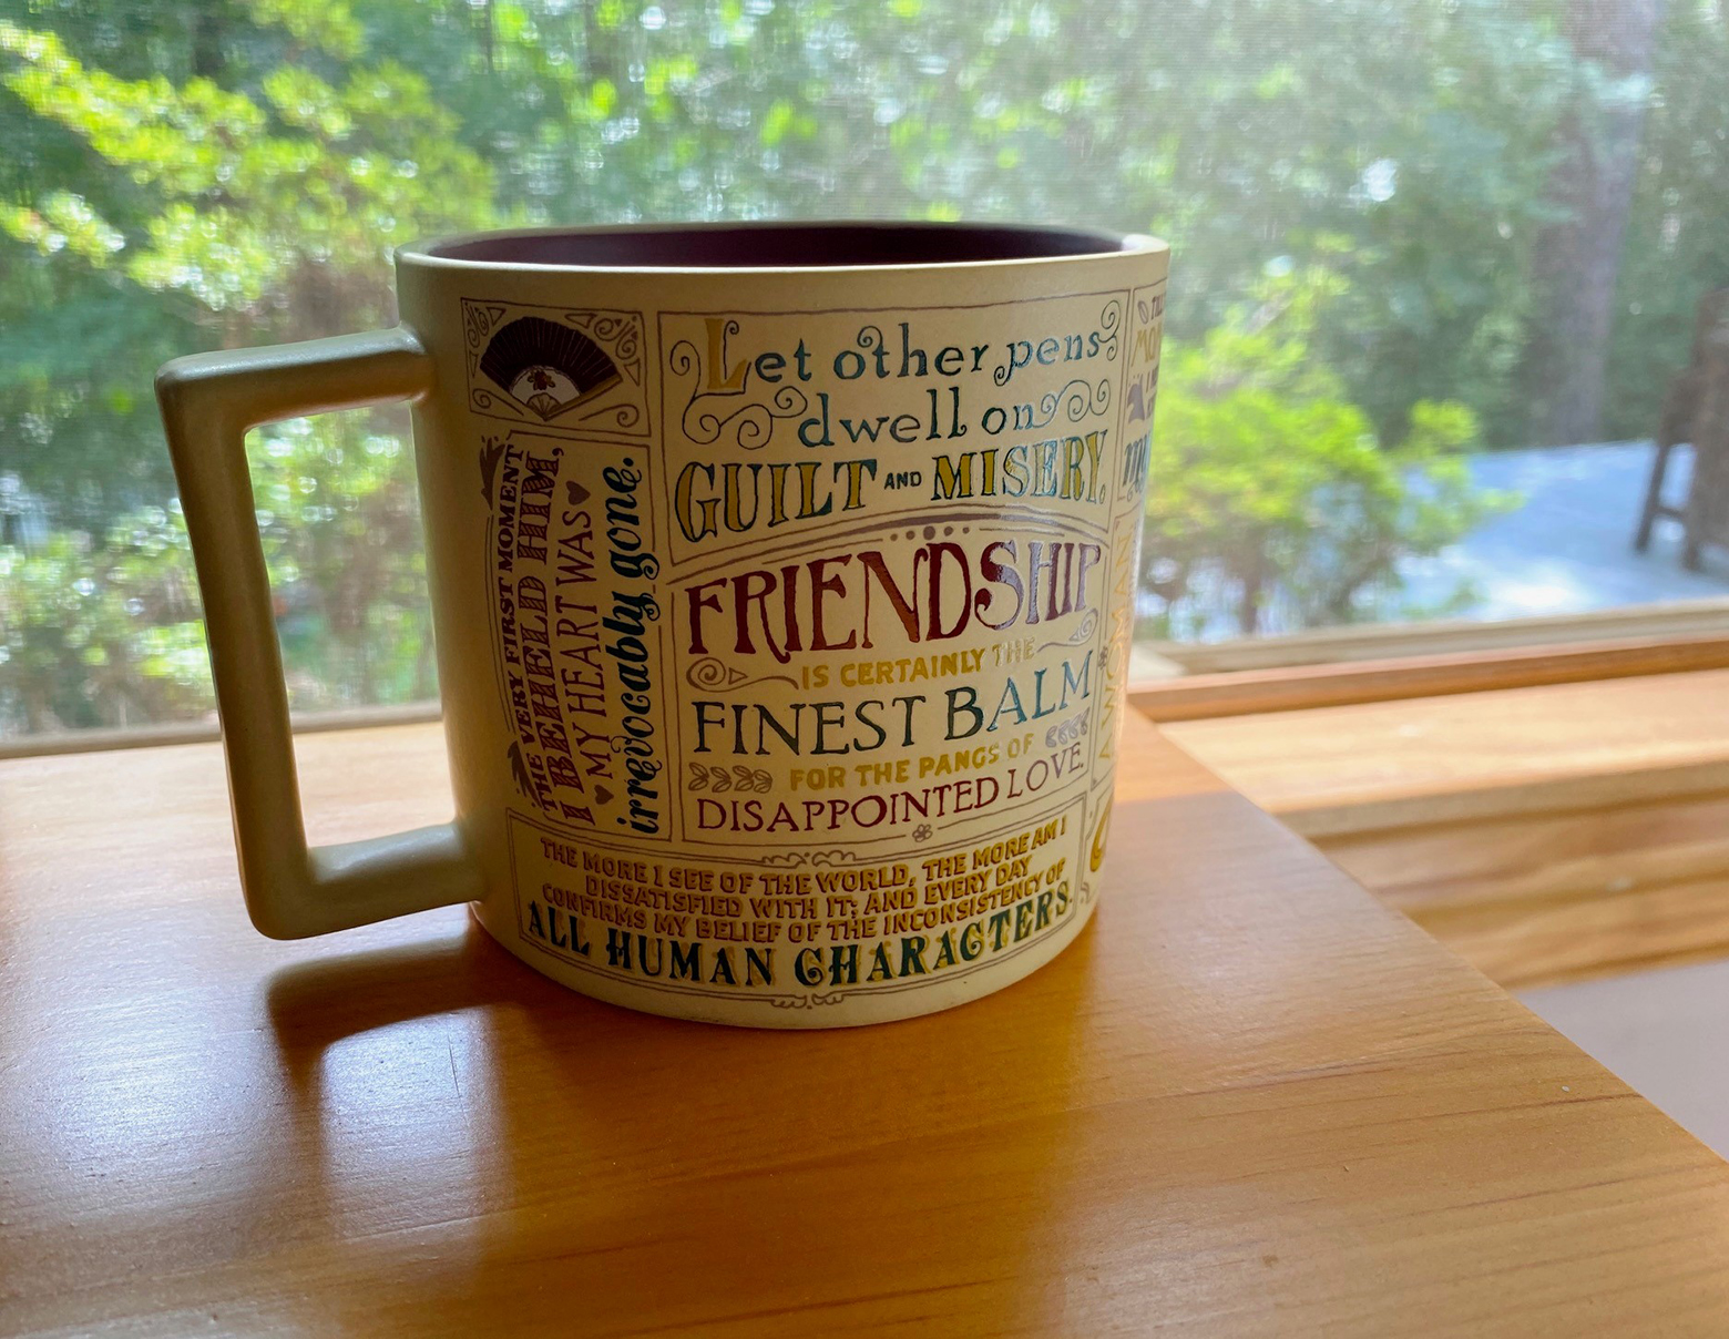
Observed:
[[[204,595],[228,754],[240,886],[273,939],[367,926],[482,894],[456,823],[308,849],[289,694],[252,510],[246,432],[277,419],[420,400],[432,358],[412,330],[175,358],[156,375],[168,450]]]

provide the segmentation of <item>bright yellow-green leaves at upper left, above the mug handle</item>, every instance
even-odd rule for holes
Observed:
[[[316,10],[318,22],[290,21],[287,7],[261,14],[337,54],[358,42],[341,7]],[[330,325],[375,324],[389,306],[391,244],[491,218],[491,173],[451,142],[455,123],[427,81],[392,61],[356,66],[342,85],[284,62],[254,100],[209,78],[119,80],[73,59],[54,33],[10,22],[0,22],[0,50],[19,61],[7,88],[142,189],[124,273],[211,317],[296,311],[294,289],[318,268],[327,308],[332,277],[337,291],[344,273],[360,280],[348,311],[325,311]],[[0,209],[0,227],[97,266],[128,242],[67,190]]]

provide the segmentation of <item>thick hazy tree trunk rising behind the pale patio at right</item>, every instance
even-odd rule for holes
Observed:
[[[1639,171],[1651,48],[1662,0],[1568,0],[1573,55],[1610,85],[1580,88],[1560,131],[1549,199],[1566,211],[1537,239],[1525,353],[1534,446],[1598,441],[1627,213]],[[1620,83],[1620,88],[1613,85]]]

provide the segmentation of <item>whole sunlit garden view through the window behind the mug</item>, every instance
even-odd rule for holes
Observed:
[[[1719,0],[10,0],[0,739],[213,718],[157,365],[503,225],[1169,239],[1141,666],[1708,609],[1726,69]],[[251,450],[294,706],[434,699],[406,415]]]

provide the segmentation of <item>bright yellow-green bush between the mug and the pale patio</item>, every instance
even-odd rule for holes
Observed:
[[[1219,592],[1240,631],[1274,597],[1297,626],[1361,618],[1364,597],[1397,586],[1400,559],[1440,550],[1499,505],[1463,471],[1478,436],[1464,405],[1420,401],[1409,434],[1385,443],[1316,356],[1347,296],[1326,268],[1292,270],[1198,344],[1165,349],[1143,540],[1160,635],[1200,631]]]

